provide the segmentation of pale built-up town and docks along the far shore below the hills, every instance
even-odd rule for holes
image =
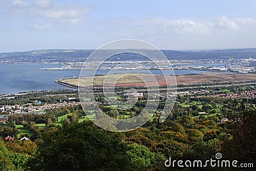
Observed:
[[[61,63],[61,68],[40,68],[38,70],[199,70],[218,71],[226,73],[256,73],[256,59],[234,59],[228,60],[172,60],[169,64],[165,61],[105,61],[100,65],[99,61],[84,65],[84,63]]]

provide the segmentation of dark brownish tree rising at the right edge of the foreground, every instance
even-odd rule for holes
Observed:
[[[222,152],[233,160],[243,163],[256,163],[256,108],[244,101],[234,101],[223,107],[223,113],[231,124],[228,138],[223,143]]]

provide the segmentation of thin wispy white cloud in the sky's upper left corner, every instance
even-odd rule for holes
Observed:
[[[10,17],[23,17],[31,19],[33,22],[45,23],[38,26],[48,26],[51,24],[76,25],[84,22],[84,15],[89,11],[88,6],[74,4],[54,3],[51,0],[13,0],[6,13]],[[33,26],[34,28],[36,28]],[[40,28],[40,27],[38,27]],[[45,27],[46,28],[46,27]]]

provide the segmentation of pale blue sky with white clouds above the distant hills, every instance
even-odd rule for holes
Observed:
[[[253,48],[256,0],[0,0],[0,52],[122,39],[168,50]]]

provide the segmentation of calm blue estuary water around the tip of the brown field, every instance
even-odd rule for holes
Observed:
[[[54,83],[56,79],[78,76],[80,70],[38,70],[40,68],[61,67],[60,64],[0,64],[0,94],[16,94],[27,91],[70,89]],[[106,74],[108,70],[97,71],[97,74]],[[115,71],[115,72],[131,72]],[[132,71],[141,72],[141,71]],[[202,73],[196,70],[174,70],[175,75]],[[152,70],[154,74],[161,74],[159,70]],[[171,74],[172,72],[170,72]],[[88,70],[86,74],[93,75]],[[166,74],[166,73],[165,73]]]

